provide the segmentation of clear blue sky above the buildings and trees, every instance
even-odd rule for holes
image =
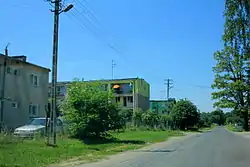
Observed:
[[[224,0],[65,0],[71,2],[74,9],[60,15],[59,80],[110,79],[113,59],[115,78],[144,78],[151,99],[164,98],[164,79],[171,78],[171,97],[213,109],[209,87],[213,52],[222,47]],[[10,42],[10,55],[51,68],[51,6],[44,0],[1,6],[0,50]]]

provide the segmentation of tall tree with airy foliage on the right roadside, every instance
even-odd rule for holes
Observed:
[[[248,0],[225,1],[224,48],[215,52],[215,79],[212,88],[214,104],[219,108],[238,110],[249,130],[250,106],[250,15]]]

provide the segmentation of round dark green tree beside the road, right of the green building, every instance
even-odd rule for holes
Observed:
[[[177,101],[170,114],[181,130],[193,127],[199,121],[197,107],[189,100]]]

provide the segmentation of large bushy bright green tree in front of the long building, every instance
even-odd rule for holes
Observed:
[[[64,119],[70,122],[70,135],[100,137],[108,130],[122,128],[124,121],[111,99],[112,92],[102,89],[100,83],[72,82],[61,106]]]

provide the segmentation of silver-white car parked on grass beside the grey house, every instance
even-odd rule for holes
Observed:
[[[50,119],[47,120],[50,125]],[[48,130],[50,126],[48,126]],[[46,118],[32,118],[24,126],[18,127],[14,131],[14,136],[18,137],[34,137],[35,134],[44,135],[46,130]],[[61,119],[56,121],[56,131],[63,132],[63,122]]]

